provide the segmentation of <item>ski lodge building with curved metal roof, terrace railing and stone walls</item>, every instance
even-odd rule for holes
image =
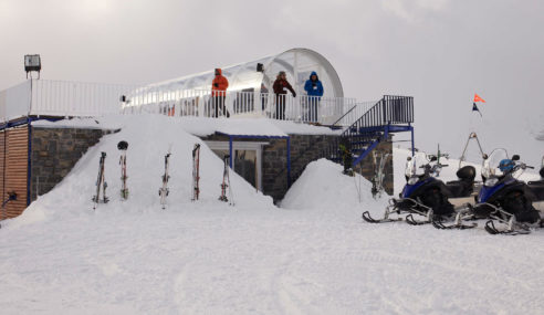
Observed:
[[[226,113],[213,117],[213,70],[146,86],[31,78],[1,91],[0,220],[22,213],[103,135],[118,132],[102,126],[105,115],[148,113],[186,119],[191,134],[218,156],[230,155],[230,167],[275,201],[308,162],[318,158],[341,162],[341,144],[351,148],[354,169],[368,179],[375,169],[372,153],[393,154],[394,133],[411,132],[414,148],[412,97],[386,95],[373,102],[346,97],[333,65],[315,51],[291,49],[221,69],[229,81],[224,105],[230,118]],[[296,97],[285,97],[281,118],[272,90],[280,71],[296,92]],[[324,86],[317,111],[310,105],[315,98],[304,92],[314,71]],[[83,117],[96,124],[70,123]],[[212,128],[199,128],[201,119]],[[385,189],[393,195],[390,158],[385,175]]]

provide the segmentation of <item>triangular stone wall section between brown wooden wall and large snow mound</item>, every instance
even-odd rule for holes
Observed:
[[[49,192],[111,130],[32,127],[30,198]]]

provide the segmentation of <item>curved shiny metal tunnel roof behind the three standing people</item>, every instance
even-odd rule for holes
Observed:
[[[258,72],[258,64],[263,64],[263,72]],[[338,74],[333,65],[320,53],[308,49],[291,49],[280,54],[265,56],[255,61],[221,67],[229,80],[228,91],[272,92],[272,84],[280,71],[285,71],[287,81],[301,95],[310,73],[315,71],[323,83],[324,96],[344,97]],[[191,74],[174,80],[151,84],[148,87],[179,91],[211,88],[213,70]]]

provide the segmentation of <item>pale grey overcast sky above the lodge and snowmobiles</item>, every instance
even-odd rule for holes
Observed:
[[[24,80],[30,53],[43,78],[139,84],[308,48],[348,97],[415,96],[417,146],[458,157],[477,129],[485,150],[536,162],[543,12],[542,0],[0,0],[0,90]]]

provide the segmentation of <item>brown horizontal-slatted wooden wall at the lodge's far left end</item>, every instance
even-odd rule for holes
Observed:
[[[14,218],[27,208],[29,169],[29,127],[0,132],[0,189],[2,202],[14,191],[17,200],[0,209],[0,220]]]

